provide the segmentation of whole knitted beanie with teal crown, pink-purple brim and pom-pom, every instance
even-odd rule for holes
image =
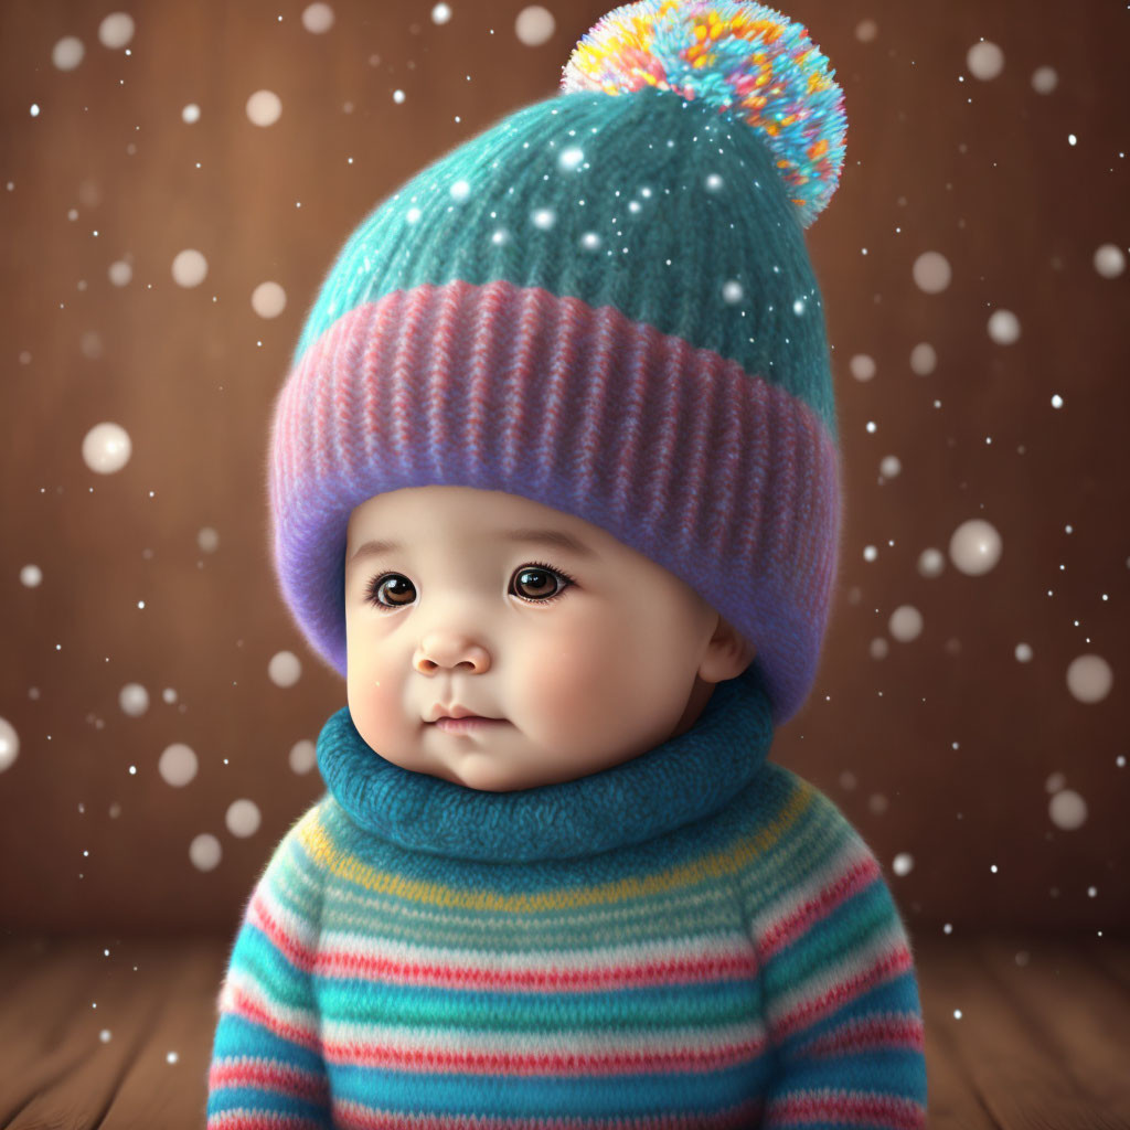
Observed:
[[[460,145],[346,241],[273,408],[273,564],[346,675],[353,508],[521,495],[685,581],[756,647],[775,724],[811,686],[840,532],[831,357],[803,231],[846,118],[807,29],[640,0],[560,90]]]

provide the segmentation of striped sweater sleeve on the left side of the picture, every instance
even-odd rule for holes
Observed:
[[[313,955],[321,883],[303,844],[318,806],[287,833],[255,884],[217,998],[207,1130],[330,1130]]]

